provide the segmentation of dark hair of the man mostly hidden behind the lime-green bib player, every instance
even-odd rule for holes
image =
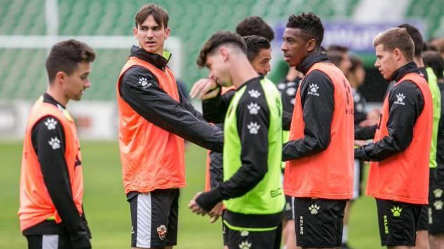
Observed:
[[[274,39],[273,29],[262,18],[257,16],[243,19],[236,26],[236,33],[240,36],[258,35],[265,37],[268,41]]]

